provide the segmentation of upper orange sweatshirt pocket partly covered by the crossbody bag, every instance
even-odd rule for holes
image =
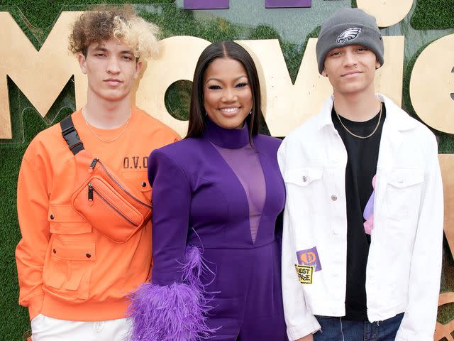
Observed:
[[[92,225],[79,215],[71,205],[49,205],[49,228],[51,233],[80,234],[92,232]]]

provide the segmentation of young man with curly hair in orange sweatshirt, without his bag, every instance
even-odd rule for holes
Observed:
[[[131,105],[143,59],[157,50],[157,33],[157,26],[123,6],[84,12],[70,36],[70,50],[88,78],[87,104],[71,116],[79,139],[148,203],[148,155],[179,139]],[[126,296],[150,275],[151,224],[113,241],[74,209],[78,185],[60,125],[40,132],[18,178],[19,303],[28,307],[33,341],[128,340]]]

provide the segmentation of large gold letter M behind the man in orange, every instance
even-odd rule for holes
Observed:
[[[6,76],[26,95],[42,117],[48,113],[72,75],[80,77],[68,50],[71,23],[81,12],[63,12],[39,51],[8,12],[0,12],[0,139],[11,139],[11,114]]]

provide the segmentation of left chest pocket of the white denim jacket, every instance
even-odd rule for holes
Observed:
[[[290,169],[285,173],[287,201],[292,210],[314,212],[321,210],[323,200],[322,167],[304,167]]]

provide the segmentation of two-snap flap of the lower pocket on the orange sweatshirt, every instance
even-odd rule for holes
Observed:
[[[96,261],[94,241],[77,242],[55,238],[52,243],[52,256],[65,261]]]

